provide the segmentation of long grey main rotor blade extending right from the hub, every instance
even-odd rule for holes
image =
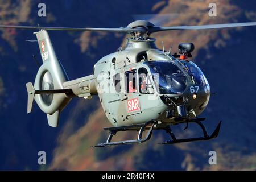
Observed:
[[[203,30],[203,29],[213,29],[213,28],[229,28],[229,27],[245,27],[245,26],[256,26],[256,22],[208,24],[208,25],[198,25],[198,26],[152,27],[152,28],[149,28],[148,32],[151,34],[154,32],[166,31],[166,30]]]

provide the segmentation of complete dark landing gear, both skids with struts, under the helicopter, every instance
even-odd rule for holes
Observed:
[[[106,128],[104,128],[104,130],[109,131],[109,137],[106,140],[106,142],[105,143],[99,143],[96,146],[92,146],[92,147],[109,147],[109,146],[116,146],[116,145],[120,145],[120,144],[143,143],[143,142],[146,142],[147,140],[149,140],[151,138],[153,129],[165,130],[168,134],[170,134],[170,136],[172,138],[172,140],[167,140],[166,142],[159,143],[159,144],[175,144],[175,143],[193,142],[193,141],[199,141],[199,140],[210,140],[210,139],[216,138],[218,136],[219,131],[220,131],[221,121],[218,123],[218,125],[217,125],[216,129],[213,131],[213,133],[211,135],[208,135],[203,123],[201,123],[201,121],[203,121],[204,119],[205,118],[197,118],[197,119],[191,119],[191,120],[188,121],[188,122],[197,123],[197,125],[199,125],[201,127],[201,129],[203,130],[204,137],[177,139],[175,137],[174,133],[172,133],[170,125],[168,125],[164,128],[157,128],[157,127],[154,128],[154,126],[157,125],[156,124],[157,122],[156,121],[150,121],[150,122],[139,124],[139,125],[106,127]],[[185,129],[187,129],[187,127],[188,126],[186,126]],[[133,131],[133,130],[139,131],[137,139],[125,140],[125,141],[120,141],[120,142],[111,142],[112,137],[115,134],[117,134],[118,131]],[[142,138],[142,133],[145,130],[148,130],[147,134],[144,138]]]

